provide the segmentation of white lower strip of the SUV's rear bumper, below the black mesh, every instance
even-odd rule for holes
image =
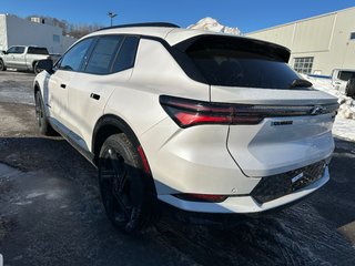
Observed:
[[[273,208],[282,207],[283,205],[290,204],[302,197],[310,195],[325,183],[329,181],[328,167],[325,168],[323,176],[310,184],[306,187],[303,187],[294,193],[288,195],[275,198],[266,203],[258,203],[252,196],[231,196],[222,203],[204,203],[204,202],[190,202],[183,201],[172,195],[159,195],[159,200],[165,202],[172,206],[175,206],[180,209],[187,212],[197,212],[197,213],[220,213],[220,214],[254,214],[270,211]]]

